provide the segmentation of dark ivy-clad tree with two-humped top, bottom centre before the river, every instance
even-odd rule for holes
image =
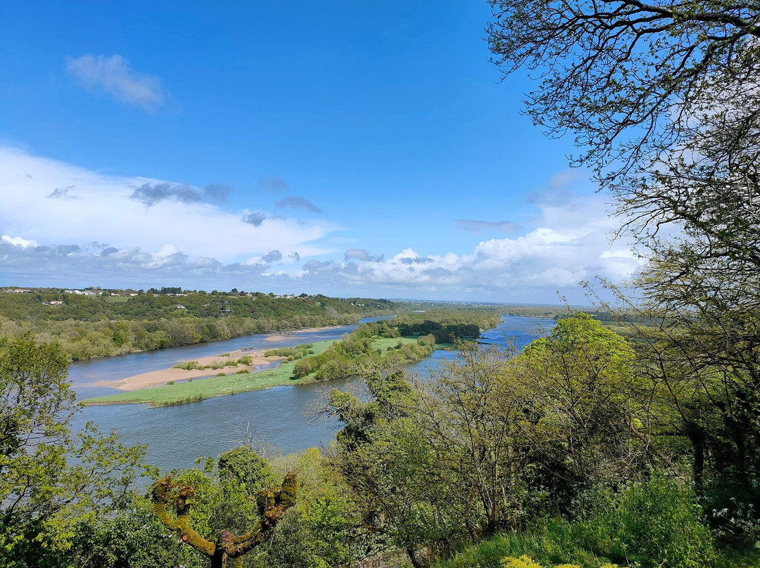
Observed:
[[[451,500],[419,422],[403,372],[366,378],[369,400],[333,390],[328,412],[344,428],[335,463],[363,511],[363,526],[424,563],[421,544],[446,545],[461,523],[451,522]],[[451,543],[448,543],[451,544]]]

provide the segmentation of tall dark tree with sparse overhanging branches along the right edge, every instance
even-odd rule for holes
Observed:
[[[617,293],[659,422],[654,447],[691,454],[698,494],[711,467],[713,488],[757,502],[760,7],[491,5],[497,65],[540,71],[528,112],[550,134],[575,134],[575,165],[613,191],[618,235],[649,258],[638,297]]]

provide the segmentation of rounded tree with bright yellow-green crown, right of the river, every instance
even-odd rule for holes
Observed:
[[[649,396],[633,363],[628,342],[582,312],[557,320],[515,358],[515,380],[534,393],[521,437],[559,513],[582,491],[625,483],[657,459],[648,448]]]

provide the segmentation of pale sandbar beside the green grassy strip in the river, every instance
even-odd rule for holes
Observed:
[[[305,330],[302,330],[305,331]],[[284,357],[264,357],[264,349],[253,351],[251,349],[238,349],[237,351],[230,352],[230,355],[216,355],[214,357],[201,357],[193,359],[198,361],[198,364],[208,365],[214,361],[234,361],[243,356],[251,357],[252,361],[249,365],[239,364],[237,367],[223,367],[218,369],[191,369],[185,371],[185,369],[161,369],[160,371],[150,371],[150,373],[136,374],[132,377],[126,377],[120,380],[103,380],[100,383],[96,383],[98,387],[113,387],[119,390],[138,390],[145,387],[157,387],[158,385],[169,383],[170,381],[195,379],[198,377],[214,377],[217,374],[233,374],[236,371],[255,371],[256,369],[265,365],[271,364],[276,361],[281,361]]]

